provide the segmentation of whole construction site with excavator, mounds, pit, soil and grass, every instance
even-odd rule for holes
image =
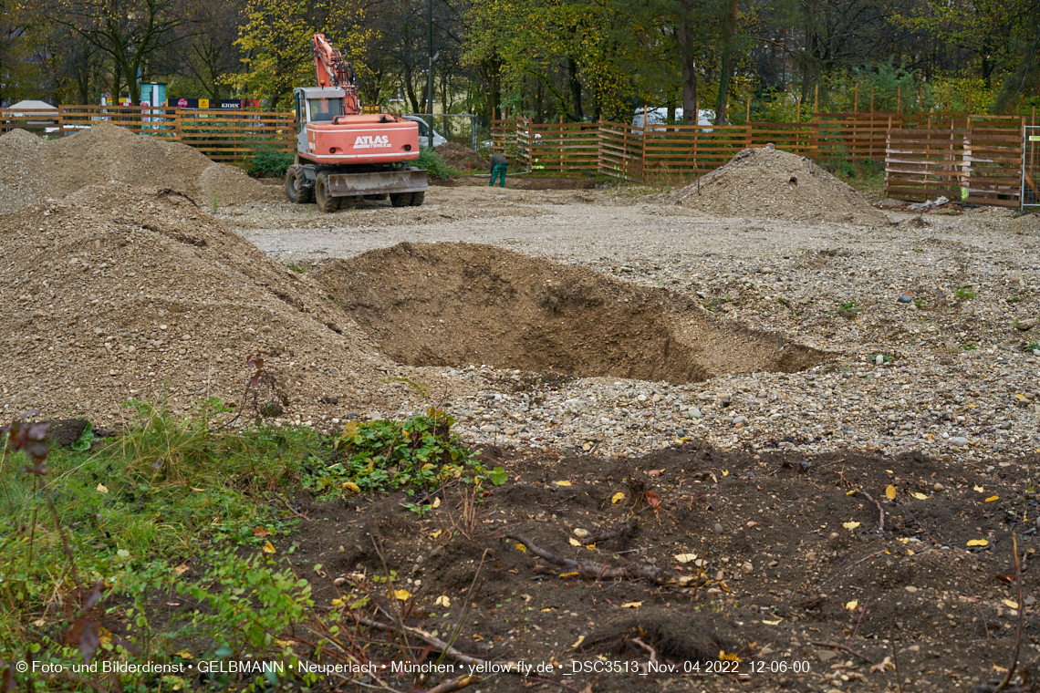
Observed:
[[[852,114],[856,188],[502,119],[490,187],[324,79],[284,177],[0,135],[0,691],[1037,690],[1029,117]]]

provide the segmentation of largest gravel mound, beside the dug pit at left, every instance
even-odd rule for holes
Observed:
[[[254,351],[269,354],[290,414],[387,401],[376,369],[392,365],[326,292],[181,194],[88,186],[4,216],[0,244],[7,414],[104,421],[129,399],[234,401]]]

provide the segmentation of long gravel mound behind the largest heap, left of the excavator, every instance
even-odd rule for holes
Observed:
[[[102,123],[44,141],[22,130],[0,137],[0,213],[110,182],[183,192],[200,204],[281,196],[241,169],[215,164],[198,150]]]

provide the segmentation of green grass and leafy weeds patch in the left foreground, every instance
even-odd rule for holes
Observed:
[[[0,662],[31,651],[64,665],[244,655],[289,663],[285,638],[295,624],[327,639],[336,627],[310,609],[310,583],[288,562],[291,551],[275,548],[297,522],[283,498],[504,481],[501,470],[475,462],[436,409],[347,427],[333,439],[307,427],[222,427],[229,410],[216,399],[186,417],[162,404],[126,406],[132,419],[122,435],[92,444],[85,434],[81,451],[51,451],[46,471],[16,451],[17,437],[0,439]],[[329,479],[336,483],[316,487]],[[185,599],[197,608],[163,607]],[[24,690],[92,688],[31,673],[16,681]],[[124,691],[191,685],[155,674],[121,682]],[[228,690],[233,682],[214,683]]]

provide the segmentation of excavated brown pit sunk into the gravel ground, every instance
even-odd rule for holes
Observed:
[[[397,361],[687,382],[826,354],[713,321],[688,298],[489,245],[401,243],[317,272]]]

